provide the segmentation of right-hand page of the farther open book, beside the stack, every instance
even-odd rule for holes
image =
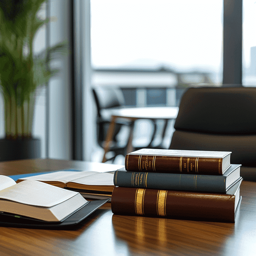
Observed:
[[[114,186],[114,173],[101,172],[85,178],[72,180],[72,182],[85,185]]]

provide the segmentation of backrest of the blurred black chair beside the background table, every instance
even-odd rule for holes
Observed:
[[[97,106],[97,114],[101,117],[102,109],[121,107],[125,104],[122,91],[117,88],[95,87],[92,93]]]

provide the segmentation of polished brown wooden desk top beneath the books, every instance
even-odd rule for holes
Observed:
[[[104,165],[101,163],[101,167]],[[0,162],[0,174],[85,170],[87,166],[82,161],[20,160]],[[243,199],[236,223],[117,216],[107,203],[77,230],[1,227],[0,255],[255,255],[255,185],[242,182]]]

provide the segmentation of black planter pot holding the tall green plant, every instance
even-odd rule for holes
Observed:
[[[0,139],[0,161],[41,157],[40,139]]]

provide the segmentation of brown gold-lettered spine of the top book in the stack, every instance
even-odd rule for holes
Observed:
[[[138,172],[222,175],[222,158],[127,154],[125,169]]]

